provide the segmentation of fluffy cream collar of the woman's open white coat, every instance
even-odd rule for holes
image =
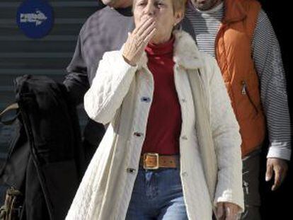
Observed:
[[[174,30],[173,35],[175,37],[173,61],[185,69],[202,67],[200,52],[193,37],[183,30]],[[147,61],[146,52],[144,52],[139,60],[138,69],[146,68]]]

